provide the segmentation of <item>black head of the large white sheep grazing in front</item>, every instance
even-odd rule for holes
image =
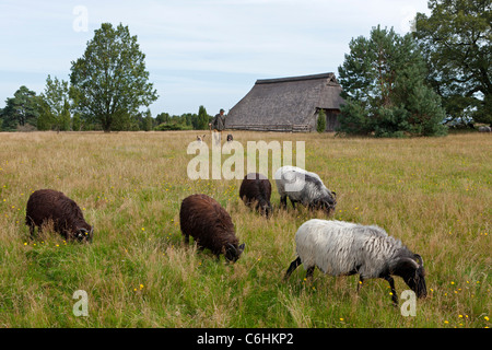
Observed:
[[[394,273],[400,276],[418,298],[425,298],[427,289],[425,285],[425,270],[423,259],[419,254],[413,258],[405,257],[398,260]]]

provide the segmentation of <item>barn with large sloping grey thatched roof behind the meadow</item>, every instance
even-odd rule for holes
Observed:
[[[338,126],[341,86],[333,73],[257,80],[227,114],[227,129],[315,131],[318,113],[326,114],[326,131]]]

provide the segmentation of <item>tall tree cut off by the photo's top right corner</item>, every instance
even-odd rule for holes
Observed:
[[[448,119],[492,125],[490,0],[431,0],[429,9],[430,16],[417,14],[413,35]]]

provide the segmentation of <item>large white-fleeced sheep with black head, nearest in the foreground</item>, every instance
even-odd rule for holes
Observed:
[[[399,276],[418,298],[425,298],[423,259],[399,240],[375,225],[312,219],[295,233],[297,258],[291,262],[284,280],[303,264],[306,278],[315,267],[331,276],[360,275],[358,291],[365,279],[383,278],[391,288],[391,300],[398,305],[395,281]]]

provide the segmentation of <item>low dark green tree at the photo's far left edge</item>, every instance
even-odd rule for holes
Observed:
[[[2,110],[2,129],[14,130],[17,126],[36,126],[39,117],[40,101],[34,91],[22,85],[14,93],[13,97],[8,97],[5,107]]]

